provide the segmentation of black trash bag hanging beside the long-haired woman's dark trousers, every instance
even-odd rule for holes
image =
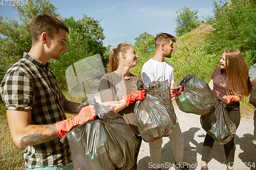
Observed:
[[[202,128],[221,144],[228,143],[236,134],[237,127],[221,100],[217,100],[215,109],[200,116]]]

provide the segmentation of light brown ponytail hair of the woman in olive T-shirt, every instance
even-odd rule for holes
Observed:
[[[119,54],[121,52],[126,52],[131,45],[127,43],[120,43],[117,48],[113,48],[110,52],[110,61],[109,61],[109,68],[110,72],[117,70],[119,65]]]

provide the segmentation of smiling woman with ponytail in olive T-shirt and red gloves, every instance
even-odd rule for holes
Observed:
[[[136,83],[140,78],[129,71],[137,65],[138,58],[134,48],[129,44],[121,43],[117,48],[113,48],[110,52],[110,73],[101,78],[98,88],[101,102],[123,102],[115,111],[125,119],[137,138],[137,149],[131,169],[137,169],[137,157],[142,141],[134,119],[134,102],[145,98],[145,90],[137,90]]]

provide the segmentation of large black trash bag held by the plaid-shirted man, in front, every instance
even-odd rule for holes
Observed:
[[[88,105],[85,103],[81,105]],[[136,151],[131,128],[112,109],[96,102],[91,105],[95,106],[96,120],[75,127],[61,139],[69,141],[74,169],[130,169]]]

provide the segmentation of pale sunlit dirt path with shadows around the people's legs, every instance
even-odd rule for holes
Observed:
[[[206,132],[201,128],[200,115],[184,113],[179,110],[178,106],[174,106],[174,108],[184,137],[183,162],[190,164],[190,169],[199,170],[201,167],[203,141],[206,134]],[[256,169],[256,145],[251,142],[252,136],[253,117],[242,117],[234,140],[236,144],[234,169]],[[152,169],[150,168],[151,165],[148,164],[150,161],[148,143],[143,141],[138,157],[138,169]],[[163,164],[163,168],[161,169],[175,169],[172,167],[174,161],[172,142],[170,142],[168,137],[164,137],[161,154],[161,164]],[[210,170],[226,169],[226,165],[223,164],[223,162],[226,162],[223,145],[215,142],[208,161]],[[248,163],[250,165],[254,163],[254,167],[247,167],[246,165],[248,165]]]

